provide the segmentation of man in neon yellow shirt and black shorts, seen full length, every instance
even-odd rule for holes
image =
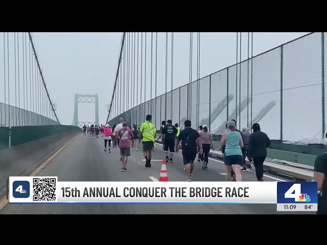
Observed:
[[[139,128],[139,136],[138,140],[143,144],[143,155],[146,159],[145,167],[151,167],[151,152],[155,145],[155,133],[156,129],[154,125],[151,123],[152,116],[147,115],[146,121],[143,122],[141,127]]]

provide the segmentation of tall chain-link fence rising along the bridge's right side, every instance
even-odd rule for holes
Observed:
[[[321,143],[326,130],[327,34],[312,33],[186,84],[115,116],[140,125],[147,114],[159,129],[172,119],[183,128],[207,125],[220,135],[227,120],[259,123],[271,139]],[[167,101],[166,101],[167,99]],[[149,109],[152,106],[152,111]]]

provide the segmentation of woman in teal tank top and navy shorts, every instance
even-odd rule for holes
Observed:
[[[232,165],[234,166],[236,181],[242,181],[241,166],[243,164],[242,148],[244,147],[242,135],[236,131],[236,124],[234,121],[227,122],[228,131],[223,132],[221,138],[221,145],[226,145],[225,148],[225,167],[226,167],[226,181],[230,181],[230,174]]]

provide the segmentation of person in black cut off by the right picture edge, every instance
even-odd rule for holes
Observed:
[[[327,148],[327,132],[322,140],[325,148]],[[327,152],[317,156],[314,166],[313,181],[317,182],[318,191],[318,212],[317,214],[327,214]]]

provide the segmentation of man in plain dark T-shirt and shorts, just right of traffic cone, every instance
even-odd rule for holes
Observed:
[[[180,131],[177,137],[175,144],[176,153],[179,151],[178,146],[180,141],[182,141],[183,163],[185,165],[186,174],[188,175],[186,181],[191,181],[197,150],[199,150],[200,155],[203,154],[203,151],[200,135],[198,131],[191,128],[190,120],[184,122],[184,130]]]

